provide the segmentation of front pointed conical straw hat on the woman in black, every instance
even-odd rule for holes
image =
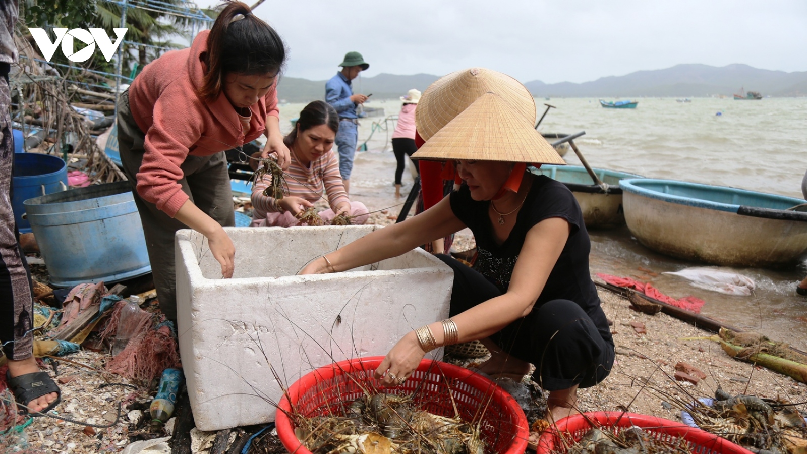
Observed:
[[[566,164],[533,124],[495,93],[480,96],[412,158]]]

